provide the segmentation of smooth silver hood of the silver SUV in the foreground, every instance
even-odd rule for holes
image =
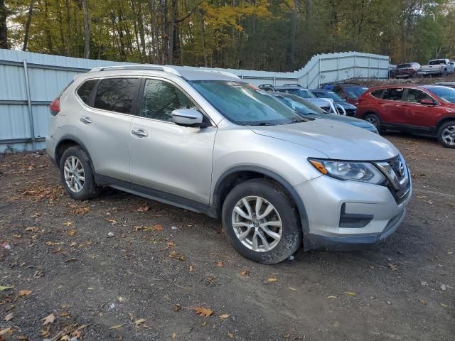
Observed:
[[[250,129],[259,135],[316,149],[336,160],[387,160],[399,153],[380,135],[333,120],[314,119],[280,126],[250,126]]]

